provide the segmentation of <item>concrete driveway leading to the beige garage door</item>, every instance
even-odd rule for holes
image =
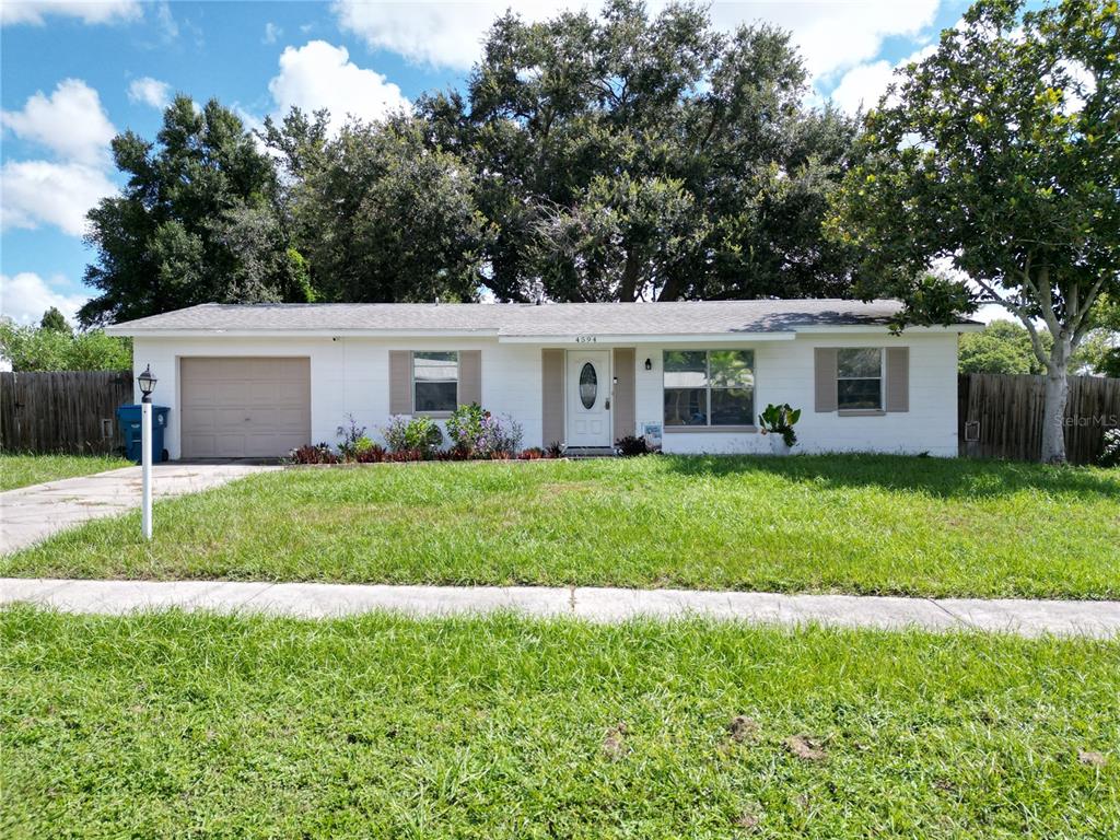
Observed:
[[[157,500],[181,496],[274,469],[281,467],[236,461],[158,464],[152,467],[152,493]],[[139,507],[140,492],[140,467],[124,467],[0,493],[0,554],[88,520]]]

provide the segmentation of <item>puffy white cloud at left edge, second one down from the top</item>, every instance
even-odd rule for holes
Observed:
[[[25,140],[81,164],[104,160],[116,133],[97,92],[80,78],[59,82],[49,99],[39,91],[22,111],[2,112],[0,122]]]

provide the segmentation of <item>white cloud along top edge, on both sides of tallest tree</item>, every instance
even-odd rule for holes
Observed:
[[[916,37],[933,24],[940,0],[801,0],[792,2],[713,2],[716,27],[767,21],[793,32],[814,78],[838,73],[878,55],[892,36]],[[656,13],[665,3],[648,3]],[[513,7],[525,20],[554,17],[562,9],[597,12],[598,0],[508,0],[480,2],[382,3],[335,0],[339,26],[373,49],[389,49],[414,62],[467,68],[482,56],[494,19]]]

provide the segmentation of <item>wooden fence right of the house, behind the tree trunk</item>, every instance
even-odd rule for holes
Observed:
[[[1045,391],[1044,376],[961,374],[956,388],[961,455],[1038,460]],[[1095,463],[1104,448],[1104,432],[1116,427],[1120,427],[1120,380],[1071,376],[1065,404],[1070,463]]]

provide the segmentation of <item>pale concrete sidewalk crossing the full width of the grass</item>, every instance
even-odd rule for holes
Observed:
[[[702,616],[763,624],[823,624],[928,631],[978,629],[1113,637],[1120,601],[878,598],[674,589],[361,586],[234,581],[49,580],[0,578],[0,605],[27,601],[69,613],[209,609],[304,618],[393,610],[446,616],[513,610],[620,622],[636,616]]]

